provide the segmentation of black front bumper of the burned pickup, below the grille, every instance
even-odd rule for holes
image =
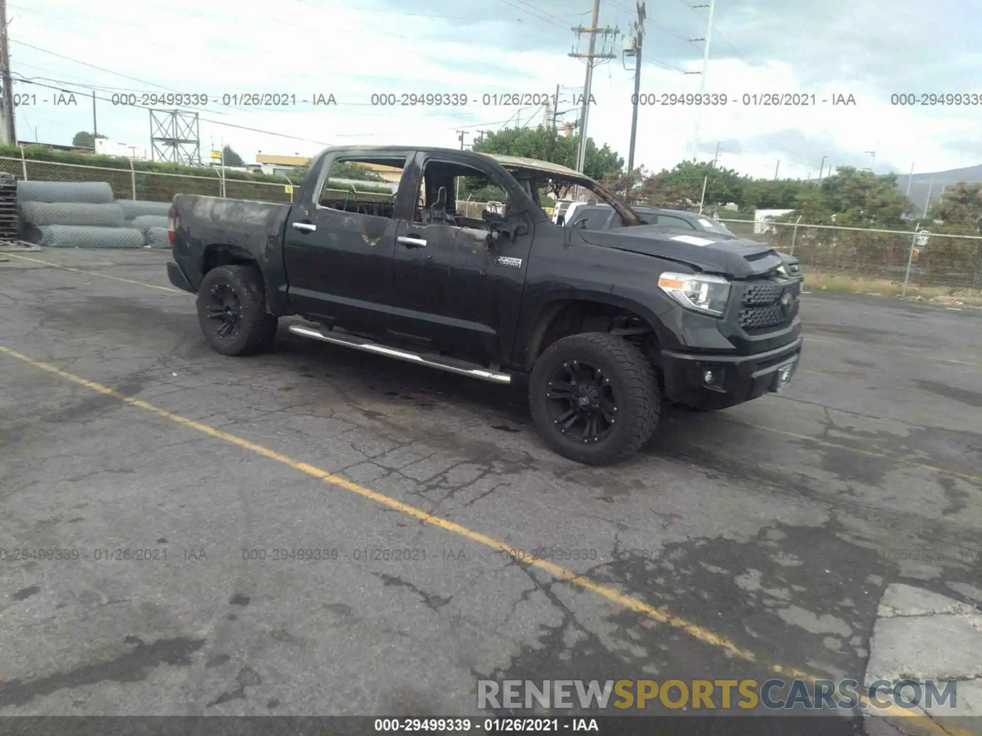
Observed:
[[[779,390],[797,369],[802,339],[756,355],[711,355],[662,350],[665,396],[701,409],[722,409]],[[786,370],[787,369],[787,370]],[[707,385],[704,375],[713,374]]]

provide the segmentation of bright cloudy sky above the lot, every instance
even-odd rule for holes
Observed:
[[[696,2],[648,0],[642,92],[699,90],[699,75],[683,74],[702,65],[703,44],[687,40],[706,31],[707,9],[692,9]],[[258,151],[307,155],[337,143],[456,147],[459,130],[469,142],[516,116],[543,118],[542,108],[494,104],[493,95],[551,94],[560,84],[559,110],[573,111],[584,67],[568,54],[585,51],[587,37],[570,26],[588,26],[590,8],[590,0],[13,0],[15,78],[76,91],[75,105],[55,104],[55,89],[15,82],[26,103],[18,136],[69,143],[91,131],[92,101],[79,92],[94,88],[98,131],[138,150],[149,150],[149,114],[114,102],[167,92],[206,95],[202,149],[224,141],[246,161]],[[633,18],[633,0],[601,0],[601,26],[626,31]],[[980,24],[982,6],[969,0],[718,0],[705,88],[729,104],[698,113],[642,106],[635,163],[659,169],[691,157],[697,114],[699,155],[712,158],[719,143],[721,166],[757,177],[774,176],[779,161],[781,176],[814,177],[823,157],[826,167],[900,174],[911,164],[926,172],[982,163],[982,84],[973,83],[982,71]],[[627,158],[632,74],[623,39],[607,46],[618,58],[595,69],[588,133]],[[223,104],[223,95],[251,92],[297,102]],[[817,104],[742,104],[744,94],[774,92],[814,94]],[[896,93],[949,92],[975,93],[977,104],[891,104]],[[388,93],[469,100],[452,109],[371,104],[372,94]],[[303,102],[316,94],[338,104]],[[833,105],[836,95],[855,104]]]

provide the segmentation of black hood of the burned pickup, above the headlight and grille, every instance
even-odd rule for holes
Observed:
[[[644,226],[606,231],[571,230],[570,233],[573,242],[579,239],[591,245],[667,258],[731,279],[765,276],[783,263],[770,245],[715,233],[682,234]]]

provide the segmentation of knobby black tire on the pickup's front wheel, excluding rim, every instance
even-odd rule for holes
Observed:
[[[581,444],[562,434],[549,413],[549,378],[573,360],[600,368],[616,396],[618,419],[610,434],[596,444]],[[528,403],[546,445],[576,462],[607,465],[647,442],[658,424],[662,402],[654,368],[637,347],[616,335],[582,333],[554,342],[535,361],[528,381]]]

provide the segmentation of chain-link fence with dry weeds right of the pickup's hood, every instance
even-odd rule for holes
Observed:
[[[736,236],[790,253],[804,271],[916,287],[982,289],[982,237],[721,220]],[[763,233],[755,230],[764,230]]]

